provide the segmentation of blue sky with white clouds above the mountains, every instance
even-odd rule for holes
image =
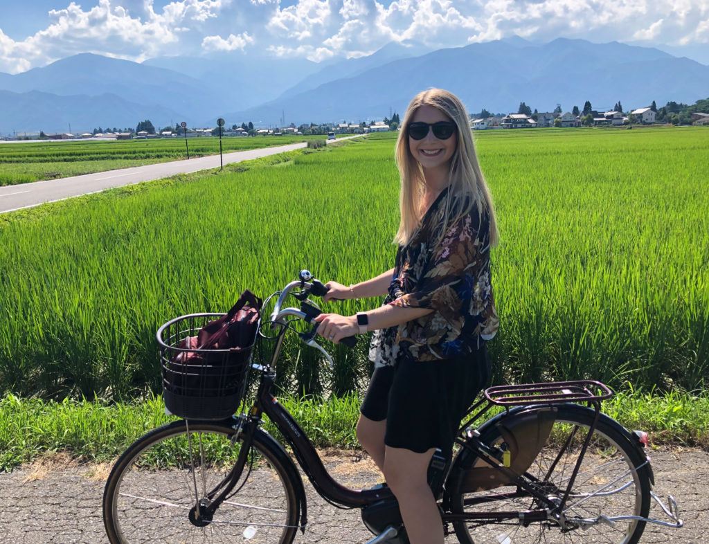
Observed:
[[[709,64],[709,0],[0,0],[0,72],[79,52],[320,62],[392,40],[439,48],[515,34],[618,40]]]

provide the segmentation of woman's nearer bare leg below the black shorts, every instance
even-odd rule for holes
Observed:
[[[384,476],[398,500],[411,544],[444,544],[443,522],[427,481],[433,452],[435,448],[415,453],[386,446]]]

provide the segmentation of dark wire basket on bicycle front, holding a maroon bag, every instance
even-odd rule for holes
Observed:
[[[196,348],[200,329],[223,315],[183,315],[158,329],[163,398],[171,414],[185,419],[218,420],[236,412],[245,394],[256,338],[247,347]]]

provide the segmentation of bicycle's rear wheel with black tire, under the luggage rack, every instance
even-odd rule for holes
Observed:
[[[574,426],[578,426],[580,431],[577,431],[571,446],[576,448],[576,450],[574,453],[563,456],[559,464],[554,467],[549,479],[544,480],[551,484],[554,481],[558,482],[557,489],[561,488],[563,490],[565,489],[562,483],[564,482],[564,477],[566,476],[566,482],[568,482],[574,467],[573,460],[578,458],[580,443],[586,437],[595,412],[578,404],[560,404],[557,406],[557,410],[554,428],[560,429],[562,434],[555,434],[554,430],[552,430],[545,448],[542,448],[532,466],[527,469],[527,472],[535,476],[541,474],[541,479],[544,480],[545,472],[549,470],[553,459],[556,458],[556,454],[562,450],[559,444],[564,443],[563,432],[566,432],[566,436],[569,436],[571,429]],[[520,412],[520,410],[510,412],[510,414],[503,417],[513,418],[515,417],[515,412]],[[502,419],[499,421],[502,421]],[[510,420],[507,419],[507,421],[509,422]],[[503,440],[499,428],[494,423],[485,424],[480,431],[481,441],[488,446],[495,445]],[[466,499],[469,502],[474,500],[481,501],[483,496],[492,497],[497,494],[499,497],[504,492],[513,492],[516,489],[516,486],[508,485],[484,492],[462,492],[461,489],[464,486],[467,470],[469,470],[477,456],[465,448],[459,451],[458,456],[460,455],[463,455],[465,459],[458,460],[458,463],[454,462],[454,468],[447,483],[447,487],[450,489],[450,509],[453,514],[461,514],[466,511],[466,505],[464,504]],[[570,463],[566,462],[566,457],[568,457],[568,461],[571,461]],[[589,461],[596,463],[596,466],[593,467],[591,465],[591,468],[587,468]],[[584,456],[584,463],[581,465],[579,475],[574,482],[574,489],[572,489],[568,502],[566,502],[567,508],[571,506],[571,509],[566,511],[566,515],[569,516],[569,519],[596,518],[598,514],[647,517],[650,508],[650,489],[652,488],[649,466],[644,465],[640,470],[631,470],[632,467],[640,467],[645,461],[644,454],[632,443],[629,433],[623,426],[608,416],[601,414],[596,424],[596,429],[593,431],[591,444]],[[615,480],[615,477],[621,477],[625,472],[628,475],[625,478],[621,478],[618,487],[615,487],[613,480]],[[591,474],[590,476],[589,473]],[[620,482],[625,484],[629,478],[631,484],[627,488],[623,488]],[[610,487],[603,489],[603,495],[599,493],[594,496],[593,492],[603,488],[604,485],[610,485]],[[620,490],[617,491],[617,489]],[[631,489],[631,491],[627,492],[628,489]],[[562,493],[557,492],[557,496],[560,494]],[[591,497],[584,499],[583,505],[578,504],[580,499],[587,495],[591,495]],[[608,497],[608,499],[605,499],[605,497]],[[510,497],[506,497],[506,499],[510,499]],[[496,507],[494,506],[495,502],[500,502],[501,504]],[[515,508],[515,502],[517,508]],[[603,502],[603,510],[608,509],[608,511],[595,511],[596,508],[601,509],[601,502]],[[510,503],[513,506],[510,507]],[[574,506],[574,503],[578,505]],[[533,504],[531,497],[520,497],[508,501],[498,499],[489,502],[478,502],[477,504],[469,505],[468,511],[495,511],[495,509],[498,511],[515,511],[517,509],[524,511],[537,507],[539,507],[538,504]],[[621,511],[623,509],[627,510],[628,507],[632,511]],[[495,544],[545,542],[551,544],[576,541],[618,541],[619,544],[636,544],[640,540],[640,536],[642,536],[645,522],[637,520],[617,521],[613,525],[614,527],[610,528],[610,526],[601,522],[590,526],[586,530],[577,527],[564,533],[554,522],[530,523],[527,527],[523,526],[523,523],[518,520],[507,521],[505,524],[476,524],[474,521],[455,521],[453,523],[456,536],[461,544],[484,544],[487,542]],[[613,538],[604,536],[603,540],[597,540],[598,533],[605,528],[608,528],[608,532],[613,535]],[[620,534],[617,534],[619,532]]]

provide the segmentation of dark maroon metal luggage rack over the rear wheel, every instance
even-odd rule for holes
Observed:
[[[485,398],[498,406],[599,402],[610,397],[613,390],[595,380],[496,385],[485,390]]]

